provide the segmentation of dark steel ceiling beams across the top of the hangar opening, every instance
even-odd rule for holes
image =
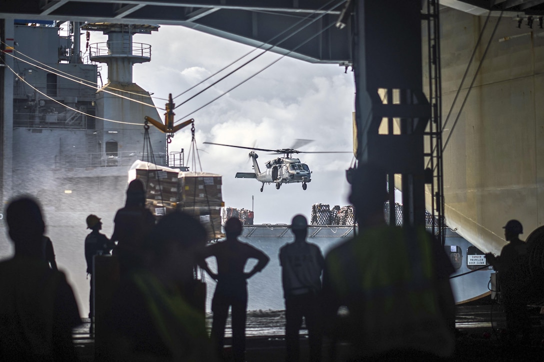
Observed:
[[[350,63],[351,39],[336,27],[345,0],[0,0],[0,18],[33,20],[175,24],[259,46],[302,18],[307,27],[271,49],[287,53],[319,34],[290,57],[312,63]],[[426,0],[422,0],[426,3]],[[443,0],[441,5],[481,15],[505,11],[515,16],[543,16],[544,0]],[[319,19],[315,20],[317,17]],[[313,21],[313,22],[312,22]],[[384,25],[388,22],[383,20]]]

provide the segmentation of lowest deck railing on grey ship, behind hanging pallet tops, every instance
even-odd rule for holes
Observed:
[[[166,164],[166,154],[153,153],[157,165]],[[131,166],[135,160],[147,159],[147,154],[137,151],[122,152],[95,152],[77,153],[63,155],[64,167],[66,168],[96,168],[96,167],[119,167]]]

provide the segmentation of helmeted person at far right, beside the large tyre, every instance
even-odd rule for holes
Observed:
[[[509,241],[502,250],[500,256],[495,257],[491,253],[486,254],[486,259],[498,272],[500,281],[500,299],[504,304],[506,328],[510,339],[514,340],[522,336],[528,339],[530,336],[530,321],[527,311],[527,301],[524,288],[526,280],[521,280],[523,260],[520,258],[527,254],[527,244],[520,240],[523,234],[523,226],[517,220],[510,220],[503,226],[504,239]]]

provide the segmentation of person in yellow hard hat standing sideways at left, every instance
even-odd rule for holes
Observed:
[[[102,221],[96,215],[87,216],[87,228],[92,231],[85,238],[85,260],[87,261],[87,274],[90,275],[91,290],[89,293],[89,318],[95,316],[94,310],[94,288],[92,287],[92,279],[94,276],[94,256],[105,255],[112,252],[115,244],[109,241],[108,237],[102,233]],[[92,323],[92,321],[91,321]]]

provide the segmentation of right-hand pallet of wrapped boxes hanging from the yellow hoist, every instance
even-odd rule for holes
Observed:
[[[180,172],[177,184],[178,209],[197,217],[206,227],[209,239],[223,238],[221,176],[207,172]]]

